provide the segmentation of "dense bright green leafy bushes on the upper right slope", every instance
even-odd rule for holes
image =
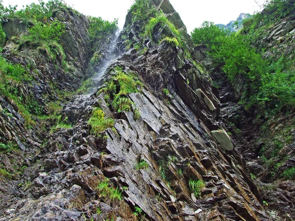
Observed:
[[[247,104],[278,109],[295,104],[295,72],[291,62],[288,63],[284,57],[271,61],[269,65],[253,48],[248,37],[235,33],[229,35],[208,22],[192,32],[192,39],[195,44],[210,47],[209,55],[230,81],[234,81],[237,74],[244,76],[250,89],[244,97],[250,100]]]

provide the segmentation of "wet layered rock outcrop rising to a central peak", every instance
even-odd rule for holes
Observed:
[[[0,221],[271,220],[220,122],[209,76],[185,55],[186,48],[197,56],[179,15],[168,0],[149,3],[180,28],[185,46],[142,42],[144,27],[129,13],[122,33],[147,49],[124,51],[119,42],[123,55],[111,62],[102,85],[65,105],[63,118],[74,126],[49,135],[21,180],[10,182],[5,191],[1,187],[9,200],[2,201]],[[165,31],[155,27],[152,36],[160,39]],[[73,48],[77,55],[86,50],[78,43]],[[124,94],[139,117],[134,111],[115,111],[102,89],[112,82],[118,93],[118,68],[142,83],[139,92]],[[98,107],[114,119],[114,127],[99,134],[88,124]]]

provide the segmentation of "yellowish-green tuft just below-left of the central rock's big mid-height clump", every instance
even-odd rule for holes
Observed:
[[[88,120],[88,124],[91,126],[92,134],[99,134],[100,132],[114,126],[114,119],[105,118],[105,113],[100,108],[94,108],[91,117]]]

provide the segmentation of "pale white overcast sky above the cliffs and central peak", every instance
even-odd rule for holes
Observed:
[[[255,1],[258,4],[264,2],[264,0],[170,0],[189,33],[194,28],[200,27],[204,21],[226,25],[231,20],[236,20],[240,13],[253,14],[260,10]],[[17,4],[18,9],[31,2],[33,0],[3,0],[4,5]],[[118,26],[122,28],[133,0],[65,0],[65,2],[85,15],[102,17],[109,21],[118,18]]]

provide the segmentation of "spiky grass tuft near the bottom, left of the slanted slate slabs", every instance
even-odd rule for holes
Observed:
[[[105,197],[111,201],[120,201],[122,199],[122,192],[118,187],[116,189],[111,187],[108,179],[100,182],[97,185],[96,190],[99,197]]]

